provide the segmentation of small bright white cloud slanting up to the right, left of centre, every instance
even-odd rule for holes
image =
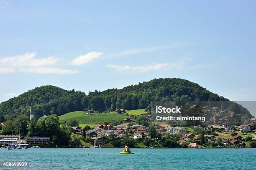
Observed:
[[[84,65],[89,63],[90,61],[94,60],[95,58],[99,58],[100,56],[102,56],[102,52],[89,52],[85,55],[81,55],[76,57],[74,60],[72,60],[70,63],[72,65]]]

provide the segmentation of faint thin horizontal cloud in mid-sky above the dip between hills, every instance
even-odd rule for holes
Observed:
[[[169,69],[171,69],[172,66],[169,63],[152,63],[152,64],[146,64],[146,65],[141,65],[141,66],[108,64],[105,67],[108,67],[111,69],[117,69],[119,71],[146,72],[146,71],[153,71],[153,70],[169,70]]]

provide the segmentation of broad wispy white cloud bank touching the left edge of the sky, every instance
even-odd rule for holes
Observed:
[[[0,73],[75,74],[78,71],[53,67],[62,58],[35,58],[36,53],[0,58]],[[49,67],[51,66],[51,67]]]

